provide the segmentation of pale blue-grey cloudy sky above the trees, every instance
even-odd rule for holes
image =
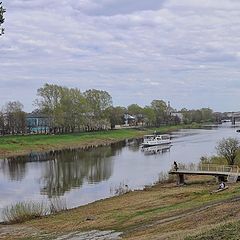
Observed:
[[[239,0],[2,0],[0,106],[44,83],[114,105],[240,111]]]

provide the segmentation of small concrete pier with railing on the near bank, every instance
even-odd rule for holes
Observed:
[[[169,174],[178,176],[177,183],[184,184],[184,175],[206,175],[214,176],[218,181],[237,182],[240,177],[239,167],[235,165],[217,165],[217,164],[179,164],[178,169],[172,169]]]

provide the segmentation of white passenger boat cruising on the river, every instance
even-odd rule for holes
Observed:
[[[171,139],[169,134],[162,135],[145,135],[143,138],[142,147],[150,147],[162,144],[170,144]]]

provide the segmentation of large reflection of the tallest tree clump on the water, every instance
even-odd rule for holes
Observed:
[[[54,160],[44,165],[41,193],[48,197],[61,196],[72,188],[81,187],[84,181],[95,183],[109,179],[114,150],[116,148],[103,147],[55,152]]]

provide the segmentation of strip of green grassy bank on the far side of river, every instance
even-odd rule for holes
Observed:
[[[154,130],[162,133],[181,128],[196,128],[199,125],[166,126],[158,129],[121,129],[62,135],[1,136],[0,157],[27,154],[32,151],[49,151],[63,148],[86,147],[117,142],[127,138],[138,138]]]

